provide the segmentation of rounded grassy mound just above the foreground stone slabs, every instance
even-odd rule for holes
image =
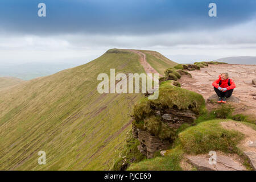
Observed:
[[[238,152],[236,145],[243,139],[238,131],[221,127],[221,119],[192,126],[179,134],[180,144],[187,154],[207,154],[209,151]],[[232,148],[233,151],[230,151]]]

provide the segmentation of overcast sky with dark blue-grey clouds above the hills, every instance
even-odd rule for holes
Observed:
[[[255,0],[1,0],[0,64],[86,63],[109,48],[256,56],[255,32]]]

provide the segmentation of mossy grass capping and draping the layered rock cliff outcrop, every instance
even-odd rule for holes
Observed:
[[[155,116],[154,109],[179,109],[192,110],[200,114],[204,110],[204,98],[200,94],[174,86],[173,80],[161,82],[159,97],[156,100],[142,98],[134,106],[134,125],[141,130],[146,130],[162,140],[174,140],[177,129],[168,127],[167,123]]]

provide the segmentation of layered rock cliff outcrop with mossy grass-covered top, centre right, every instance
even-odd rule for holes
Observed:
[[[140,142],[138,150],[152,158],[168,149],[180,127],[191,125],[203,107],[200,94],[174,86],[173,80],[161,82],[157,100],[146,97],[134,107],[132,132]]]

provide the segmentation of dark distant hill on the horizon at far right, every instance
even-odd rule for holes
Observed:
[[[229,64],[256,64],[256,56],[223,57],[214,61],[220,61]]]

